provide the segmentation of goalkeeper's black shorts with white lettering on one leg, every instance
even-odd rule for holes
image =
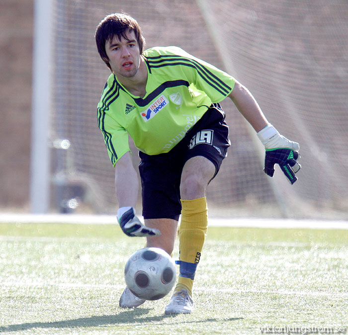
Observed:
[[[139,152],[144,219],[178,220],[184,164],[192,157],[203,156],[215,165],[214,178],[227,156],[228,135],[225,112],[214,103],[169,153],[150,156]]]

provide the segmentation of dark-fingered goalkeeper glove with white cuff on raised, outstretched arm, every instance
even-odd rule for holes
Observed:
[[[300,158],[299,144],[280,135],[271,124],[264,127],[257,135],[266,149],[263,171],[272,177],[274,165],[279,164],[288,181],[293,184],[297,180],[295,173],[301,168],[296,162]]]

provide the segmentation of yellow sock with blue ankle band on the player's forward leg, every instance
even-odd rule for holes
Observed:
[[[179,228],[180,261],[189,264],[180,265],[180,274],[183,274],[183,267],[185,271],[188,270],[188,273],[183,274],[185,276],[179,275],[175,291],[184,288],[192,296],[195,266],[199,262],[207,233],[208,208],[205,197],[194,200],[181,200],[181,205],[181,223]],[[186,277],[186,275],[191,278]]]

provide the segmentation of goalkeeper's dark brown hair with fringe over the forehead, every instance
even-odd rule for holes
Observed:
[[[95,43],[98,53],[107,67],[111,70],[109,58],[106,55],[105,43],[112,40],[114,36],[120,40],[121,37],[127,39],[126,33],[134,31],[137,39],[140,54],[143,53],[145,39],[142,35],[138,22],[126,13],[114,13],[104,17],[97,25],[95,30]]]

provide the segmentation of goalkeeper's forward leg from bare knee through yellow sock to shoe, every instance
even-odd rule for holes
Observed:
[[[180,275],[166,314],[189,314],[193,310],[192,286],[203,248],[208,217],[206,187],[214,176],[215,165],[202,156],[188,160],[182,170],[181,223],[179,229]]]

